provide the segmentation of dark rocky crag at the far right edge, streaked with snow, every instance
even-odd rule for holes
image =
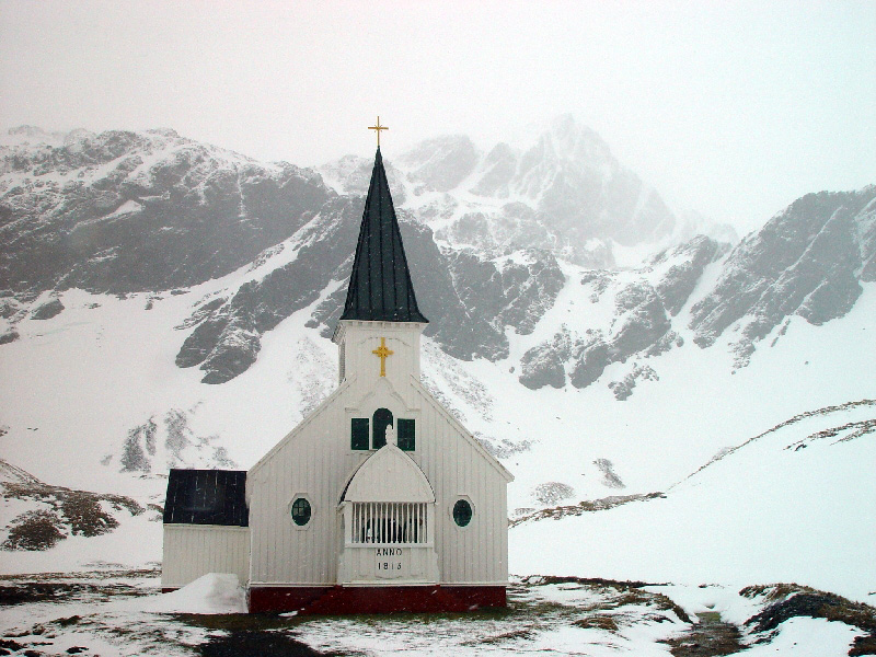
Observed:
[[[737,366],[794,315],[820,325],[845,315],[873,280],[876,186],[807,194],[740,242],[713,291],[691,309],[702,347],[737,324]]]

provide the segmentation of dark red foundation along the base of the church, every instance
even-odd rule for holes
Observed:
[[[504,586],[272,586],[249,591],[250,613],[434,613],[505,606]]]

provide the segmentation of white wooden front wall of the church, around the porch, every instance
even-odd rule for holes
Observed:
[[[349,418],[370,417],[379,407],[389,408],[394,418],[416,418],[416,451],[408,454],[435,492],[440,581],[507,583],[510,475],[419,384],[422,327],[354,322],[341,332],[346,341],[344,384],[247,475],[252,584],[337,583],[344,549],[337,505],[349,477],[372,453],[350,450]],[[380,337],[394,351],[383,378],[379,358],[370,353]],[[296,526],[289,512],[299,495],[312,506],[304,528]],[[452,517],[461,497],[474,508],[465,528],[457,527]]]

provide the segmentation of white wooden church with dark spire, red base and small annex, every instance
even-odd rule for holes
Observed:
[[[164,590],[233,573],[251,612],[505,606],[512,476],[420,383],[427,323],[378,142],[338,387],[249,471],[171,470]]]

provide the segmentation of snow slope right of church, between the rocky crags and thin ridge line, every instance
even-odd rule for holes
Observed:
[[[507,376],[512,361],[475,360],[462,367],[486,383],[496,400],[494,419],[486,420],[461,397],[452,401],[469,418],[470,430],[531,443],[505,459],[516,477],[509,487],[511,510],[538,507],[533,491],[544,482],[576,491],[577,497],[564,504],[666,491],[721,450],[798,413],[876,399],[876,350],[866,348],[874,316],[876,286],[869,286],[846,318],[822,326],[795,318],[775,346],[769,336],[751,365],[736,372],[729,338],[701,349],[685,335],[683,347],[643,359],[660,380],[639,382],[623,402],[607,381],[623,378],[632,362],[612,364],[584,390],[567,385],[533,393]],[[424,371],[429,373],[428,364]],[[624,487],[604,484],[593,463],[598,459],[613,463]]]

